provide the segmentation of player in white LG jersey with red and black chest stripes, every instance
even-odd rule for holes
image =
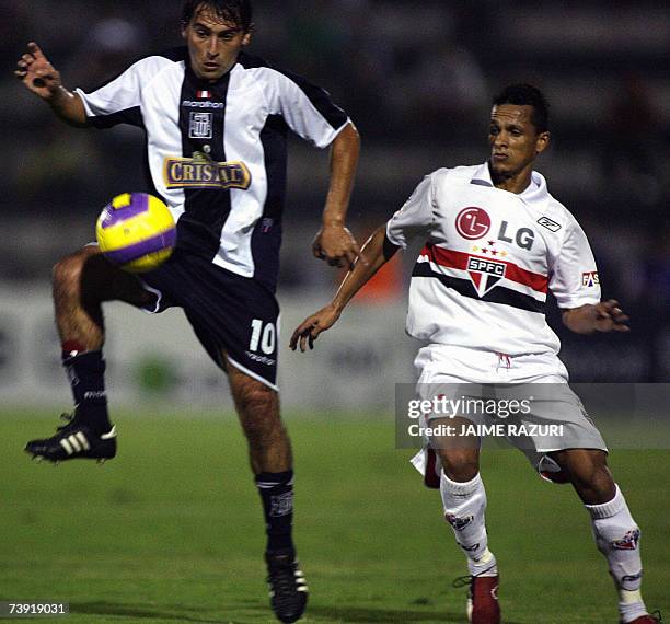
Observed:
[[[488,161],[426,176],[363,246],[368,264],[356,265],[332,302],[309,316],[290,344],[292,349],[312,348],[398,249],[412,239],[425,242],[413,271],[407,315],[407,333],[425,345],[415,360],[418,395],[429,395],[426,389],[435,384],[511,389],[516,385],[500,384],[553,383],[551,401],[531,404],[530,416],[534,423],[559,423],[564,435],[529,434],[510,441],[545,477],[574,485],[616,583],[621,622],[651,623],[656,619],[640,594],[639,529],[607,465],[602,437],[567,385],[557,357],[559,342],[544,316],[551,289],[573,332],[628,331],[619,303],[600,301],[584,231],[533,171],[550,143],[547,123],[548,106],[540,91],[527,84],[505,89],[490,114]],[[426,485],[439,487],[444,517],[467,558],[471,621],[500,622],[498,568],[484,520],[480,438],[477,430],[460,428],[478,418],[432,412],[426,420],[438,432],[438,425],[453,426],[451,432],[434,435],[413,462]]]

